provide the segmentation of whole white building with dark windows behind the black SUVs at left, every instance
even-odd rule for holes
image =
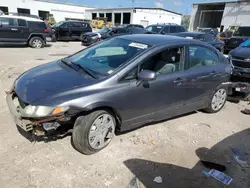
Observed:
[[[3,12],[23,13],[46,18],[53,14],[55,20],[86,19],[87,6],[57,3],[49,0],[0,0],[0,10]]]

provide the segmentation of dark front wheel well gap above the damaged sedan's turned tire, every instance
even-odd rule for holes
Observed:
[[[96,108],[93,108],[89,111],[82,111],[80,113],[78,113],[74,119],[76,119],[77,117],[81,116],[81,115],[86,115],[86,114],[89,114],[93,111],[97,111],[97,110],[107,110],[109,112],[112,113],[112,115],[115,117],[115,120],[116,120],[116,129],[120,129],[120,126],[122,124],[122,119],[121,119],[121,116],[119,115],[119,113],[112,107],[109,107],[109,106],[101,106],[101,107],[96,107]]]

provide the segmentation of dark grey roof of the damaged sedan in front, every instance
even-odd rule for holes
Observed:
[[[181,37],[177,37],[177,36],[167,36],[167,35],[158,35],[158,34],[134,34],[134,35],[122,35],[122,36],[118,36],[117,38],[121,38],[121,39],[125,39],[125,40],[131,40],[134,42],[138,42],[138,43],[143,43],[143,44],[147,44],[147,45],[151,45],[151,46],[157,46],[160,44],[164,44],[164,43],[186,43],[186,42],[192,42],[194,44],[203,44],[200,41],[196,41],[196,40],[190,40],[190,39],[186,39],[186,38],[181,38]]]

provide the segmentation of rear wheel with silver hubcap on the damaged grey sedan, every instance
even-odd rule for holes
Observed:
[[[227,95],[228,95],[228,89],[225,86],[218,87],[213,92],[213,94],[211,95],[208,107],[205,108],[204,111],[208,112],[208,113],[217,113],[217,112],[219,112],[224,107],[224,105],[225,105],[225,103],[227,101]],[[217,96],[217,100],[216,100],[216,96]]]

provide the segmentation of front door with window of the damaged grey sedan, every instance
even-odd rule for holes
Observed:
[[[121,84],[127,84],[129,89],[121,93],[121,100],[134,101],[120,109],[124,127],[127,125],[133,128],[185,112],[184,104],[188,96],[184,49],[183,46],[164,49],[143,61],[138,68],[139,72],[143,70],[156,72],[157,78],[154,81],[138,85],[137,79],[132,78],[126,83],[126,77],[124,78],[125,83]]]

